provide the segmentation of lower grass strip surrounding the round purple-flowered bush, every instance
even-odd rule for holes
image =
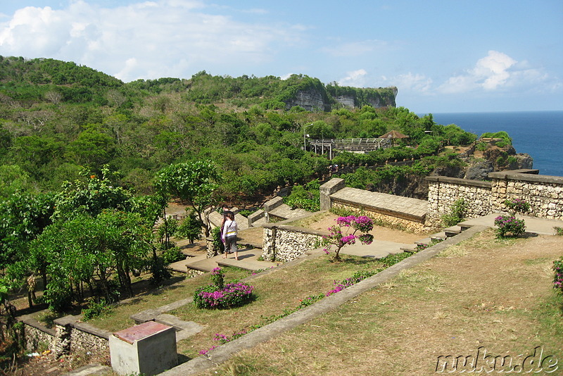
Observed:
[[[265,275],[256,275],[248,284],[255,287],[256,299],[246,306],[229,310],[205,310],[186,304],[175,311],[170,311],[181,320],[194,321],[203,325],[203,332],[189,339],[179,341],[179,353],[189,358],[198,356],[198,352],[217,345],[216,333],[232,335],[246,330],[251,325],[262,325],[264,318],[282,315],[286,310],[299,306],[301,299],[310,295],[324,294],[334,287],[334,281],[351,277],[360,270],[378,270],[388,261],[357,256],[343,256],[341,263],[335,263],[329,256],[305,260],[291,268],[274,269]],[[249,272],[238,268],[224,268],[225,282],[248,277]],[[209,275],[201,275],[183,280],[157,292],[138,296],[129,303],[117,306],[110,313],[89,321],[96,327],[112,332],[134,325],[129,315],[157,308],[167,303],[193,296],[194,291],[210,283]]]

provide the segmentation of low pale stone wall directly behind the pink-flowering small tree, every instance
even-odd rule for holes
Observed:
[[[267,261],[291,261],[320,246],[328,232],[309,230],[279,223],[267,223],[262,239],[262,258]]]

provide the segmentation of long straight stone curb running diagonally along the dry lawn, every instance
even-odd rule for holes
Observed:
[[[424,249],[419,253],[415,253],[409,258],[405,258],[405,260],[400,261],[390,268],[377,273],[377,275],[366,278],[365,280],[362,280],[361,282],[354,284],[347,289],[343,289],[337,294],[327,296],[317,303],[291,313],[291,315],[287,315],[286,317],[276,320],[271,324],[260,327],[257,330],[253,330],[253,332],[245,334],[243,337],[229,341],[227,342],[227,344],[223,344],[217,347],[217,349],[209,351],[207,356],[199,356],[198,358],[194,358],[191,361],[182,363],[181,365],[178,365],[171,370],[167,370],[160,375],[196,375],[199,372],[213,368],[220,363],[228,361],[229,358],[231,358],[234,354],[239,353],[240,351],[251,349],[262,342],[268,341],[269,339],[272,339],[279,334],[282,334],[297,327],[298,325],[303,324],[304,322],[317,318],[324,313],[332,311],[334,308],[338,308],[343,303],[346,303],[356,296],[367,292],[369,289],[372,289],[381,283],[387,282],[391,278],[398,275],[398,273],[402,270],[412,268],[415,265],[419,265],[420,263],[433,258],[438,253],[448,248],[448,246],[452,246],[466,239],[469,239],[474,234],[486,230],[487,228],[488,227],[486,226],[471,227],[461,234],[456,235],[455,237],[448,238],[441,243]]]

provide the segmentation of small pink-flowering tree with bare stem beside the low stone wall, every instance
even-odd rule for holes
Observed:
[[[373,230],[373,221],[365,215],[356,217],[355,215],[348,215],[346,217],[339,217],[336,219],[336,226],[329,227],[331,232],[329,236],[324,237],[323,244],[327,246],[324,252],[329,254],[334,247],[336,255],[334,260],[340,261],[340,250],[343,246],[348,244],[355,244],[358,239],[362,244],[371,244],[373,242],[373,235],[367,232]],[[343,232],[342,228],[346,227],[347,230]],[[353,230],[353,231],[352,231]],[[350,233],[351,231],[351,233]],[[356,235],[356,232],[364,232],[364,234]]]

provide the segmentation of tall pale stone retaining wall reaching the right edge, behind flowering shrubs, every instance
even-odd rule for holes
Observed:
[[[450,213],[457,199],[467,203],[466,218],[491,213],[507,213],[507,199],[523,199],[530,204],[526,215],[563,220],[563,177],[536,175],[538,170],[512,170],[489,173],[491,182],[426,177],[429,182],[429,208],[426,225],[439,227],[441,216]]]

